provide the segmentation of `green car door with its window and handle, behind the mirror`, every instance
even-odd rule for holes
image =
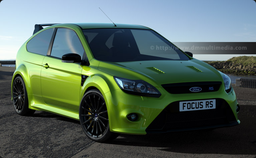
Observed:
[[[64,54],[76,53],[85,58],[77,34],[67,28],[57,28],[51,53],[43,60],[41,70],[42,97],[46,104],[78,112],[81,86],[81,63],[63,63]]]

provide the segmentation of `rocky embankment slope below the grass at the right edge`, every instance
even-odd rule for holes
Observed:
[[[232,61],[205,61],[215,69],[223,73],[232,73],[236,75],[256,75],[255,64],[242,64]]]

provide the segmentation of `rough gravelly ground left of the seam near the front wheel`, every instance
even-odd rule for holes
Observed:
[[[11,101],[12,74],[0,67],[1,157],[72,157],[94,143],[79,121],[43,111],[32,117],[17,115]]]

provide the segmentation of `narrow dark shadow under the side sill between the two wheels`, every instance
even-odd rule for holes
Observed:
[[[76,124],[80,124],[80,122],[77,120],[67,118],[64,116],[60,116],[60,115],[56,115],[56,114],[52,114],[52,113],[45,112],[45,111],[36,111],[36,113],[34,113],[33,115],[31,115],[29,117],[55,118],[55,119],[61,120],[61,121],[73,122]]]

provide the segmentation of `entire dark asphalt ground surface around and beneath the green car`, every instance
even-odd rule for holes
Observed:
[[[36,111],[16,114],[14,68],[0,67],[0,157],[252,157],[256,158],[256,89],[234,87],[240,125],[213,131],[124,135],[108,143],[88,139],[79,121]]]

